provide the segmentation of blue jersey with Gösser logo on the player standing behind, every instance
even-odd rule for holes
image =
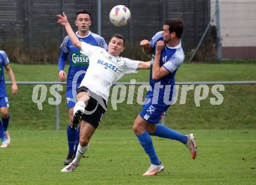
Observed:
[[[76,35],[80,41],[86,42],[90,45],[108,49],[108,45],[106,45],[104,38],[95,33],[91,33],[91,31],[86,37],[80,37],[77,32]],[[86,55],[80,53],[80,49],[72,44],[72,41],[70,41],[68,36],[64,38],[60,49],[66,54],[69,54],[69,71],[67,74],[67,90],[69,90],[72,89],[72,81],[76,73],[87,70],[89,65],[89,58]],[[83,78],[84,73],[78,77],[76,87],[80,85]]]

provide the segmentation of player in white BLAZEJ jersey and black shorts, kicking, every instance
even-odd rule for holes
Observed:
[[[90,59],[86,75],[77,89],[78,101],[74,106],[72,126],[76,127],[81,120],[76,158],[61,170],[62,172],[72,172],[79,165],[84,152],[87,151],[90,138],[106,111],[109,88],[125,73],[135,73],[139,69],[150,69],[150,61],[133,61],[120,57],[120,53],[125,49],[125,38],[120,34],[112,36],[108,51],[81,42],[70,27],[65,13],[63,13],[63,16],[57,16],[58,23],[65,26],[73,45],[80,48],[81,53],[87,55]]]

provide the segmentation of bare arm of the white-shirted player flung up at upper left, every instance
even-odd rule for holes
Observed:
[[[81,41],[79,41],[78,38],[76,37],[76,34],[74,34],[74,31],[72,30],[72,27],[70,26],[65,13],[63,12],[63,15],[57,15],[57,17],[58,17],[58,23],[61,24],[62,26],[65,26],[67,34],[69,35],[69,38],[72,41],[73,45],[81,49]]]

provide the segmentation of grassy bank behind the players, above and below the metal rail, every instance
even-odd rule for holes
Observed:
[[[56,65],[12,65],[17,81],[58,81]],[[67,67],[66,67],[67,69]],[[176,81],[227,81],[227,80],[255,80],[256,65],[246,64],[184,64],[176,74]],[[121,79],[129,81],[148,81],[148,70],[137,74],[129,74]],[[8,80],[8,79],[7,79]],[[11,130],[40,129],[54,130],[56,128],[55,105],[48,104],[47,99],[42,104],[43,110],[38,111],[37,104],[31,101],[34,86],[19,86],[17,95],[9,92]],[[128,88],[128,86],[126,86]],[[61,129],[66,128],[68,115],[65,101],[65,86],[63,86],[61,103]],[[214,98],[209,87],[209,97],[201,101],[201,106],[194,103],[194,90],[189,91],[185,105],[179,101],[169,108],[166,125],[173,129],[256,129],[256,86],[255,85],[225,85],[224,101],[221,105],[209,104],[209,98]],[[112,90],[111,90],[112,92]],[[110,95],[111,98],[112,94]],[[179,91],[180,97],[180,91]],[[131,129],[134,119],[141,110],[137,104],[137,89],[134,104],[127,105],[125,100],[118,104],[118,110],[113,111],[111,99],[108,111],[102,119],[99,129]]]

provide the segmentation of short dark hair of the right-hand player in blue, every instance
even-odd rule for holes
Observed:
[[[183,21],[182,19],[166,19],[165,25],[169,26],[170,33],[175,32],[177,38],[182,37],[183,33]]]

